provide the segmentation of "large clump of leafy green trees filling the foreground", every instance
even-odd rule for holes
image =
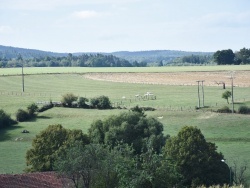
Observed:
[[[183,127],[177,136],[164,136],[158,120],[136,109],[95,120],[88,134],[50,125],[27,151],[26,171],[57,171],[75,187],[230,183],[223,154],[199,129]]]

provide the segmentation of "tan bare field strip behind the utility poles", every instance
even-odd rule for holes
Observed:
[[[144,83],[162,85],[197,85],[198,80],[204,80],[205,86],[220,86],[225,82],[231,86],[230,73],[218,72],[165,72],[165,73],[87,73],[84,78],[92,80]],[[234,86],[250,87],[250,71],[237,71],[234,74]]]

